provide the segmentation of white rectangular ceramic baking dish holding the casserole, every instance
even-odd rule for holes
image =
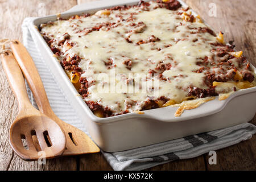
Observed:
[[[96,1],[73,7],[61,13],[62,18],[117,6],[135,5],[138,0]],[[184,2],[181,2],[184,4]],[[104,151],[116,152],[147,146],[166,140],[204,133],[248,122],[256,111],[256,87],[239,90],[224,101],[207,102],[196,109],[185,110],[181,117],[175,117],[176,107],[162,107],[144,111],[144,114],[128,113],[109,118],[98,118],[84,100],[79,97],[63,68],[53,57],[51,49],[38,31],[41,23],[57,19],[56,15],[36,18],[30,23],[30,31],[36,47],[48,65],[63,93],[81,121],[86,125],[94,142]],[[254,67],[253,67],[254,68]],[[256,70],[254,68],[254,70]]]

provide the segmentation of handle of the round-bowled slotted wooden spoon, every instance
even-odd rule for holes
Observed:
[[[1,60],[3,68],[5,69],[6,76],[10,82],[13,93],[19,103],[19,110],[25,109],[28,105],[31,105],[27,95],[27,89],[24,81],[24,77],[16,62],[13,53],[10,51],[1,53]]]

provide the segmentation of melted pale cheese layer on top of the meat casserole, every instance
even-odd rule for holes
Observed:
[[[216,36],[198,31],[208,27],[200,21],[185,21],[183,11],[150,2],[147,7],[57,20],[43,25],[41,33],[53,40],[51,46],[60,49],[60,60],[81,57],[81,77],[90,82],[84,100],[108,107],[115,115],[141,110],[146,101],[160,96],[180,103],[188,96],[189,87],[209,88],[205,84],[207,71],[196,72],[201,68],[197,62],[214,56]],[[99,26],[98,31],[91,31]],[[60,45],[66,33],[69,38]],[[211,71],[217,73],[218,69]],[[155,74],[148,76],[151,70]]]

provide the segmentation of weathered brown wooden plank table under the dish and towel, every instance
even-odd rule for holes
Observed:
[[[56,14],[89,1],[93,0],[0,0],[0,39],[22,40],[20,26],[22,20],[28,16]],[[243,50],[247,59],[254,66],[256,65],[255,0],[186,0],[185,2],[215,31],[225,32],[226,40],[234,40],[236,49]],[[0,83],[0,170],[112,170],[100,153],[47,160],[46,165],[19,159],[11,150],[8,141],[9,127],[17,114],[18,105],[1,64]],[[256,117],[251,123],[256,124]],[[150,170],[256,170],[256,137],[218,150],[216,165],[209,165],[208,158],[208,154],[205,154],[193,159],[163,164]]]

